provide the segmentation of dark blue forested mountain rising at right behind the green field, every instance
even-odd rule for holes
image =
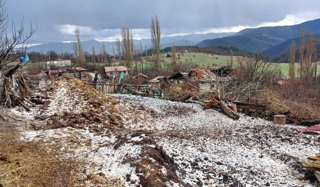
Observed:
[[[320,34],[320,19],[290,26],[247,28],[231,36],[203,40],[195,46],[236,46],[240,49],[258,52],[269,49],[291,38],[298,37],[302,28],[304,28],[305,33],[312,31],[314,34]]]

